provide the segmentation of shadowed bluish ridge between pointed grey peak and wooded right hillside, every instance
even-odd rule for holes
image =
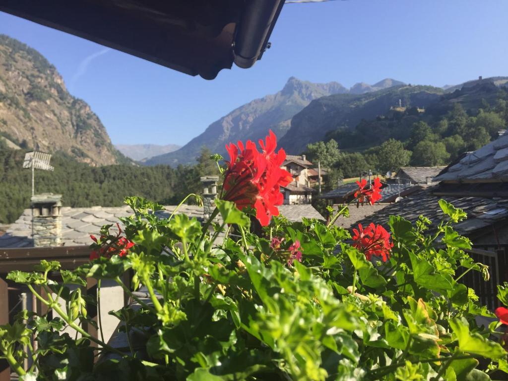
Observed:
[[[397,86],[363,94],[335,94],[312,101],[291,120],[279,144],[290,154],[305,150],[307,144],[323,140],[330,131],[353,129],[362,120],[375,119],[390,108],[425,108],[440,100],[443,90],[432,86]],[[373,132],[372,139],[375,139]]]

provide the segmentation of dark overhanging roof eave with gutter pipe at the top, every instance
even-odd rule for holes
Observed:
[[[0,0],[0,10],[190,75],[260,59],[283,0]]]

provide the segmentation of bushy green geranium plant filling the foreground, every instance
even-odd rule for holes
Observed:
[[[256,235],[232,201],[216,200],[212,217],[219,215],[219,222],[204,226],[180,214],[160,218],[154,212],[161,206],[141,198],[126,203],[133,215],[121,219],[125,240],[115,246],[118,253],[104,245],[119,242],[120,233],[109,235],[105,227],[93,247],[107,256],[72,272],[43,262],[32,273],[9,274],[59,316],[48,320],[25,312],[0,327],[2,356],[25,379],[36,368],[41,380],[190,381],[488,380],[508,370],[495,339],[498,324],[475,322],[475,316],[493,314],[458,282],[460,268],[488,273],[464,251],[470,243],[453,224],[465,215],[450,204],[440,203],[448,217],[437,227],[424,217],[413,225],[392,216],[391,234],[374,227],[352,241],[348,231],[306,218],[289,223],[272,217]],[[125,249],[127,242],[134,245]],[[123,249],[128,253],[120,256]],[[129,269],[134,290],[122,282]],[[61,279],[48,278],[54,271]],[[113,279],[131,296],[133,305],[110,312],[128,348],[111,347],[81,328],[93,324],[83,307],[100,303],[83,303],[79,289],[70,291],[86,277]],[[140,289],[147,298],[133,292]],[[32,331],[23,319],[38,341],[28,373],[21,368],[21,349]],[[64,324],[82,338],[62,333]],[[97,363],[91,342],[100,351]]]

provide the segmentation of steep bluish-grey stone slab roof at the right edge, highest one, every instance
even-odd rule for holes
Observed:
[[[508,181],[508,132],[482,148],[466,153],[434,181]]]

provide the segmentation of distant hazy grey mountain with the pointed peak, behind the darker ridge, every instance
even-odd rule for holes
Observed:
[[[254,100],[233,110],[210,124],[204,133],[179,150],[154,156],[144,164],[174,166],[194,163],[203,146],[208,147],[212,152],[224,155],[224,146],[227,143],[240,139],[257,141],[266,136],[269,129],[272,129],[280,139],[290,128],[291,118],[312,100],[331,94],[365,93],[398,84],[403,82],[385,79],[374,85],[356,84],[351,89],[347,89],[337,82],[312,83],[291,77],[276,94]]]

